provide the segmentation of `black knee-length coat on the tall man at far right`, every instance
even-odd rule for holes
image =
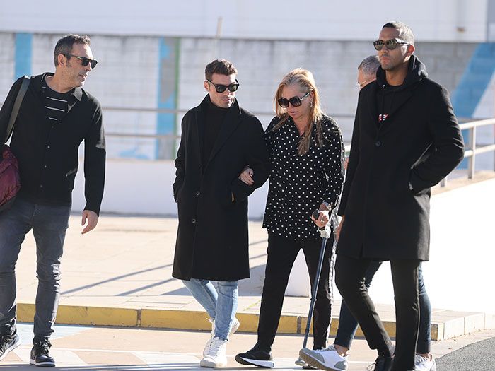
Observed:
[[[377,93],[385,88],[385,71],[379,68],[377,81],[359,94],[338,254],[429,260],[430,187],[460,163],[464,144],[448,91],[426,76],[412,56],[381,124]]]

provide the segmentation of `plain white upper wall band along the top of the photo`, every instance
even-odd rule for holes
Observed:
[[[485,41],[488,0],[0,0],[0,30],[254,39],[371,40],[388,20],[421,41]]]

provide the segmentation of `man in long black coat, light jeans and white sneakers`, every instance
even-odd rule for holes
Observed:
[[[237,69],[225,59],[206,66],[207,95],[182,119],[175,160],[179,228],[172,275],[182,280],[212,323],[202,367],[227,364],[226,343],[239,327],[238,280],[250,276],[248,196],[269,175],[263,128],[239,106],[236,76]],[[255,173],[253,184],[239,179],[247,165]],[[217,289],[211,281],[217,281]]]

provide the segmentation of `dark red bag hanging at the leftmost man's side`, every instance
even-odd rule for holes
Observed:
[[[0,160],[0,211],[9,208],[21,189],[19,166],[11,148],[4,144]]]

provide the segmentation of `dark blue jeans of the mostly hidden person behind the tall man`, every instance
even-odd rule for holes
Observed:
[[[368,270],[364,276],[364,285],[369,288],[371,280],[375,276],[376,271],[380,268],[381,261],[371,261]],[[421,354],[430,353],[431,349],[431,304],[428,293],[426,293],[426,287],[423,280],[423,271],[421,264],[418,271],[418,288],[419,288],[419,333],[418,341],[416,344],[416,352]],[[356,334],[358,328],[358,322],[351,314],[351,311],[346,305],[346,302],[342,300],[339,314],[339,328],[337,329],[337,335],[335,336],[334,343],[339,346],[345,346],[351,348],[352,340]]]

